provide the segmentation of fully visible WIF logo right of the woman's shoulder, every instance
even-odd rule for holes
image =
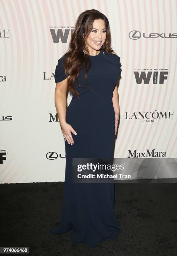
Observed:
[[[160,69],[154,69],[154,70],[155,71],[147,71],[147,72],[140,71],[140,73],[138,71],[134,71],[136,83],[142,84],[142,81],[143,81],[144,84],[164,84],[164,80],[167,80],[168,71],[160,71]],[[163,70],[166,70],[166,69],[163,69]],[[150,79],[151,79],[151,82],[150,82]]]

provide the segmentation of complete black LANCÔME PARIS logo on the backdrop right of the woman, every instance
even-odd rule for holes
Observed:
[[[174,111],[158,112],[157,110],[151,112],[133,112],[129,114],[125,112],[125,119],[142,119],[143,122],[154,122],[155,119],[173,119]]]

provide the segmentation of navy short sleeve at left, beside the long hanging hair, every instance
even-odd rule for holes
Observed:
[[[57,82],[62,82],[63,80],[65,80],[68,77],[68,74],[65,74],[65,55],[63,55],[59,60],[58,60],[58,64],[55,68],[55,83]]]

